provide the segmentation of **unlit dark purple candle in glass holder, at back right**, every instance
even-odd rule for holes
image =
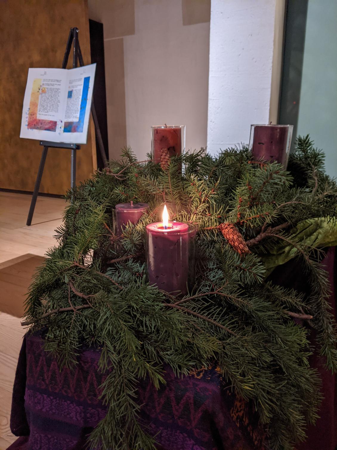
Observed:
[[[277,161],[287,168],[293,125],[251,125],[249,149],[257,161]]]

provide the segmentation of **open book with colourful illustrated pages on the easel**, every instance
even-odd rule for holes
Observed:
[[[30,68],[20,138],[86,144],[95,70]]]

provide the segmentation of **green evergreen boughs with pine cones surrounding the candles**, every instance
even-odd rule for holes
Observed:
[[[164,365],[188,374],[217,361],[235,394],[254,403],[269,448],[293,449],[320,401],[308,330],[293,317],[318,330],[317,348],[337,370],[327,275],[317,249],[289,235],[302,220],[336,220],[337,186],[323,171],[323,154],[306,136],[297,139],[289,172],[252,161],[246,147],[217,157],[201,149],[162,167],[150,157],[138,162],[128,148],[67,193],[58,246],[31,285],[23,325],[47,328],[45,349],[62,365],[76,364],[85,343],[102,349],[102,371],[114,368],[102,386],[107,414],[90,437],[93,448],[154,449],[138,420],[137,380],[159,387]],[[130,200],[149,210],[115,236],[111,208]],[[144,228],[160,220],[164,203],[171,220],[199,230],[197,283],[185,297],[146,282]],[[265,279],[259,255],[280,241],[306,266],[309,297]]]

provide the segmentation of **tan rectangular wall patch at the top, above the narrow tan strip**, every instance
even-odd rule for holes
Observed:
[[[104,39],[135,33],[134,0],[88,0],[89,18],[103,24]]]

